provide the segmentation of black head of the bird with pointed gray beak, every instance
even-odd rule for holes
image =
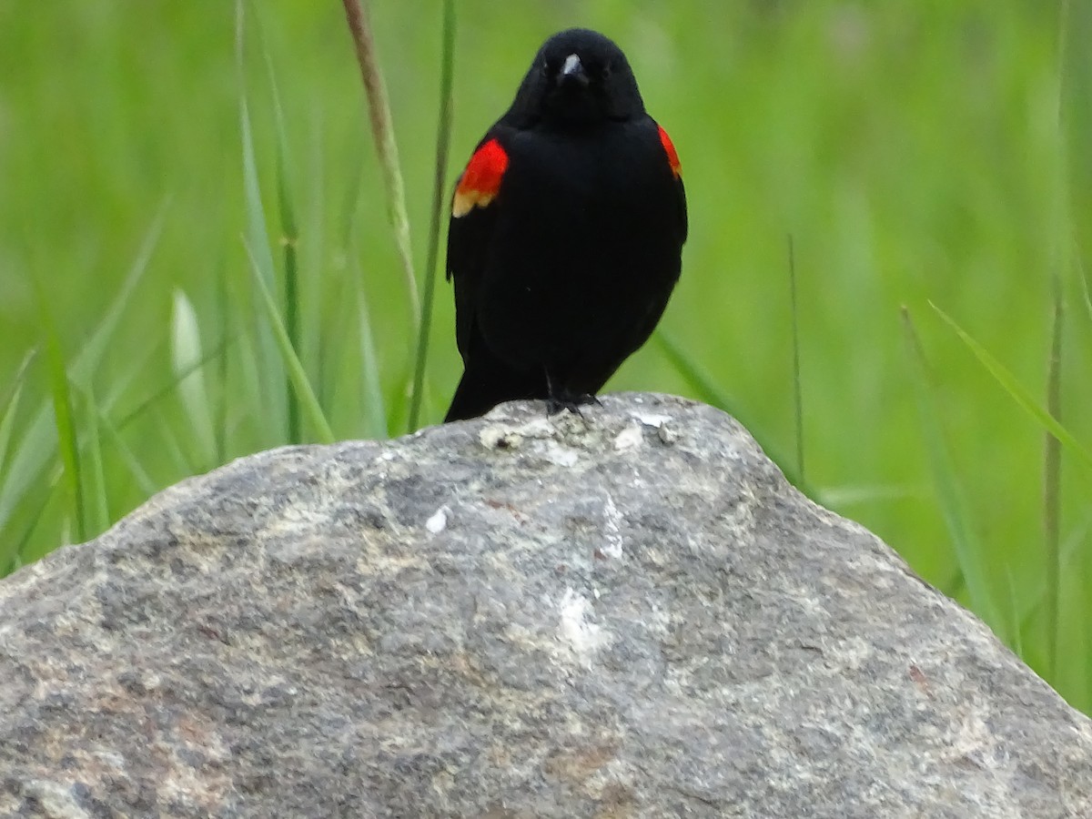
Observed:
[[[538,49],[511,112],[523,121],[594,124],[640,116],[644,103],[621,49],[598,32],[570,28]]]

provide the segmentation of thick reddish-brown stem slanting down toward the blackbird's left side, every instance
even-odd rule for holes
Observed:
[[[394,245],[402,261],[411,316],[416,329],[422,318],[420,296],[417,294],[417,280],[413,272],[413,254],[410,250],[410,216],[406,213],[405,186],[402,181],[402,170],[399,164],[399,146],[394,140],[391,108],[387,100],[387,86],[383,82],[383,72],[379,67],[371,22],[368,20],[364,3],[361,0],[342,0],[342,3],[345,7],[345,20],[353,36],[353,46],[356,48],[356,59],[360,67],[360,78],[364,80],[364,90],[368,98],[371,133],[387,189],[388,217],[394,232]]]

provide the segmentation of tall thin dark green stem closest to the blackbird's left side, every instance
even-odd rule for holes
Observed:
[[[432,301],[436,298],[436,262],[440,251],[440,226],[447,198],[448,153],[451,145],[451,108],[455,61],[455,3],[443,1],[443,32],[440,47],[440,116],[436,128],[436,168],[432,176],[432,217],[428,225],[428,252],[425,256],[425,300],[417,329],[417,355],[414,357],[413,392],[410,399],[408,431],[417,428],[425,388],[428,335],[432,327]]]

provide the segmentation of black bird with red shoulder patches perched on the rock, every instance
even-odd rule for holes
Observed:
[[[626,55],[596,32],[555,34],[455,187],[464,372],[444,420],[594,402],[660,320],[686,234],[678,156]]]

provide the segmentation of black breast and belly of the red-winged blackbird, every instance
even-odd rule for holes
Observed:
[[[497,349],[570,355],[625,337],[678,277],[677,192],[654,123],[636,133],[510,141],[479,322]],[[502,306],[502,309],[496,306]],[[568,351],[568,352],[566,352]]]

